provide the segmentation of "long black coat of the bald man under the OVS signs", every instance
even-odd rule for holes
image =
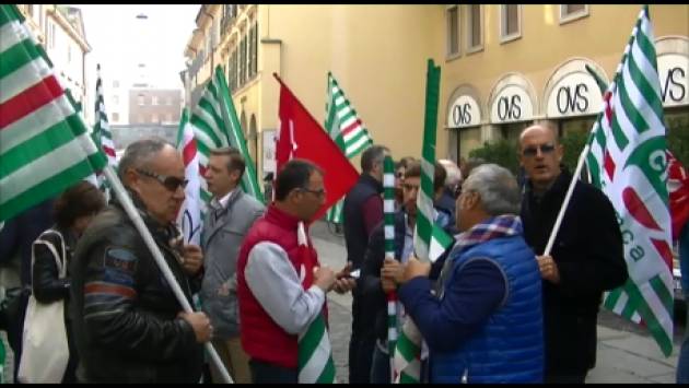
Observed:
[[[572,175],[563,171],[538,200],[530,186],[522,201],[524,237],[542,255]],[[622,236],[612,204],[579,181],[551,256],[560,283],[542,282],[546,375],[584,374],[596,364],[596,324],[603,292],[628,278]]]

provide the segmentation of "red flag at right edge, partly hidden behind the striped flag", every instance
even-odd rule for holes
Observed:
[[[667,162],[673,239],[677,239],[681,227],[689,221],[689,174],[669,151],[667,151]]]

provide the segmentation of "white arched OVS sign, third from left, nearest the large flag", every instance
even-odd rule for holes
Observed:
[[[548,117],[597,115],[603,108],[603,96],[589,74],[563,77],[548,96]]]

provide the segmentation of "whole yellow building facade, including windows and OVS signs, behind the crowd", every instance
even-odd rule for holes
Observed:
[[[376,143],[420,156],[425,68],[441,66],[437,157],[516,142],[541,119],[587,131],[602,98],[588,64],[610,81],[641,5],[205,4],[187,43],[187,93],[212,69],[227,75],[258,172],[269,172],[278,73],[319,121],[331,71]],[[651,5],[668,127],[688,130],[689,5]],[[516,151],[515,151],[516,152]],[[516,154],[515,154],[516,157]],[[359,161],[353,161],[358,166]]]

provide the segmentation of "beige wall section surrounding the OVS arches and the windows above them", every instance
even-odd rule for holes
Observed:
[[[460,139],[463,145],[459,156],[465,157],[483,141],[503,137],[501,126],[495,125],[490,117],[491,97],[501,86],[501,79],[512,73],[526,81],[533,97],[532,119],[551,118],[548,114],[548,97],[552,87],[558,84],[557,78],[574,71],[575,68],[583,68],[582,64],[586,62],[603,72],[609,81],[615,74],[641,10],[640,4],[588,4],[587,15],[563,23],[560,20],[560,4],[521,5],[521,37],[501,43],[501,5],[483,4],[481,5],[483,49],[467,52],[468,7],[459,5],[460,55],[447,59],[443,67],[445,74],[440,117],[444,118],[445,126],[452,127],[447,121],[453,102],[458,95],[472,95],[481,111],[481,130],[477,130],[479,127],[471,127],[460,129],[459,132],[451,129],[442,130],[442,136],[439,133],[439,140],[445,139],[451,153],[457,152],[456,143],[457,139]],[[656,39],[668,36],[672,36],[675,43],[687,39],[689,5],[651,5],[650,15]],[[657,45],[656,50],[661,55]],[[685,55],[689,56],[689,52]],[[689,61],[689,57],[686,58]],[[687,79],[684,79],[685,82]],[[598,93],[597,89],[593,92]],[[574,121],[577,119],[581,121],[592,120],[594,117],[589,114],[573,118]],[[571,121],[569,118],[556,119]],[[509,137],[513,138],[515,131],[529,122],[532,120],[512,125],[510,128],[512,134]],[[587,122],[583,122],[581,127],[587,127]],[[439,149],[440,146],[439,141]]]

